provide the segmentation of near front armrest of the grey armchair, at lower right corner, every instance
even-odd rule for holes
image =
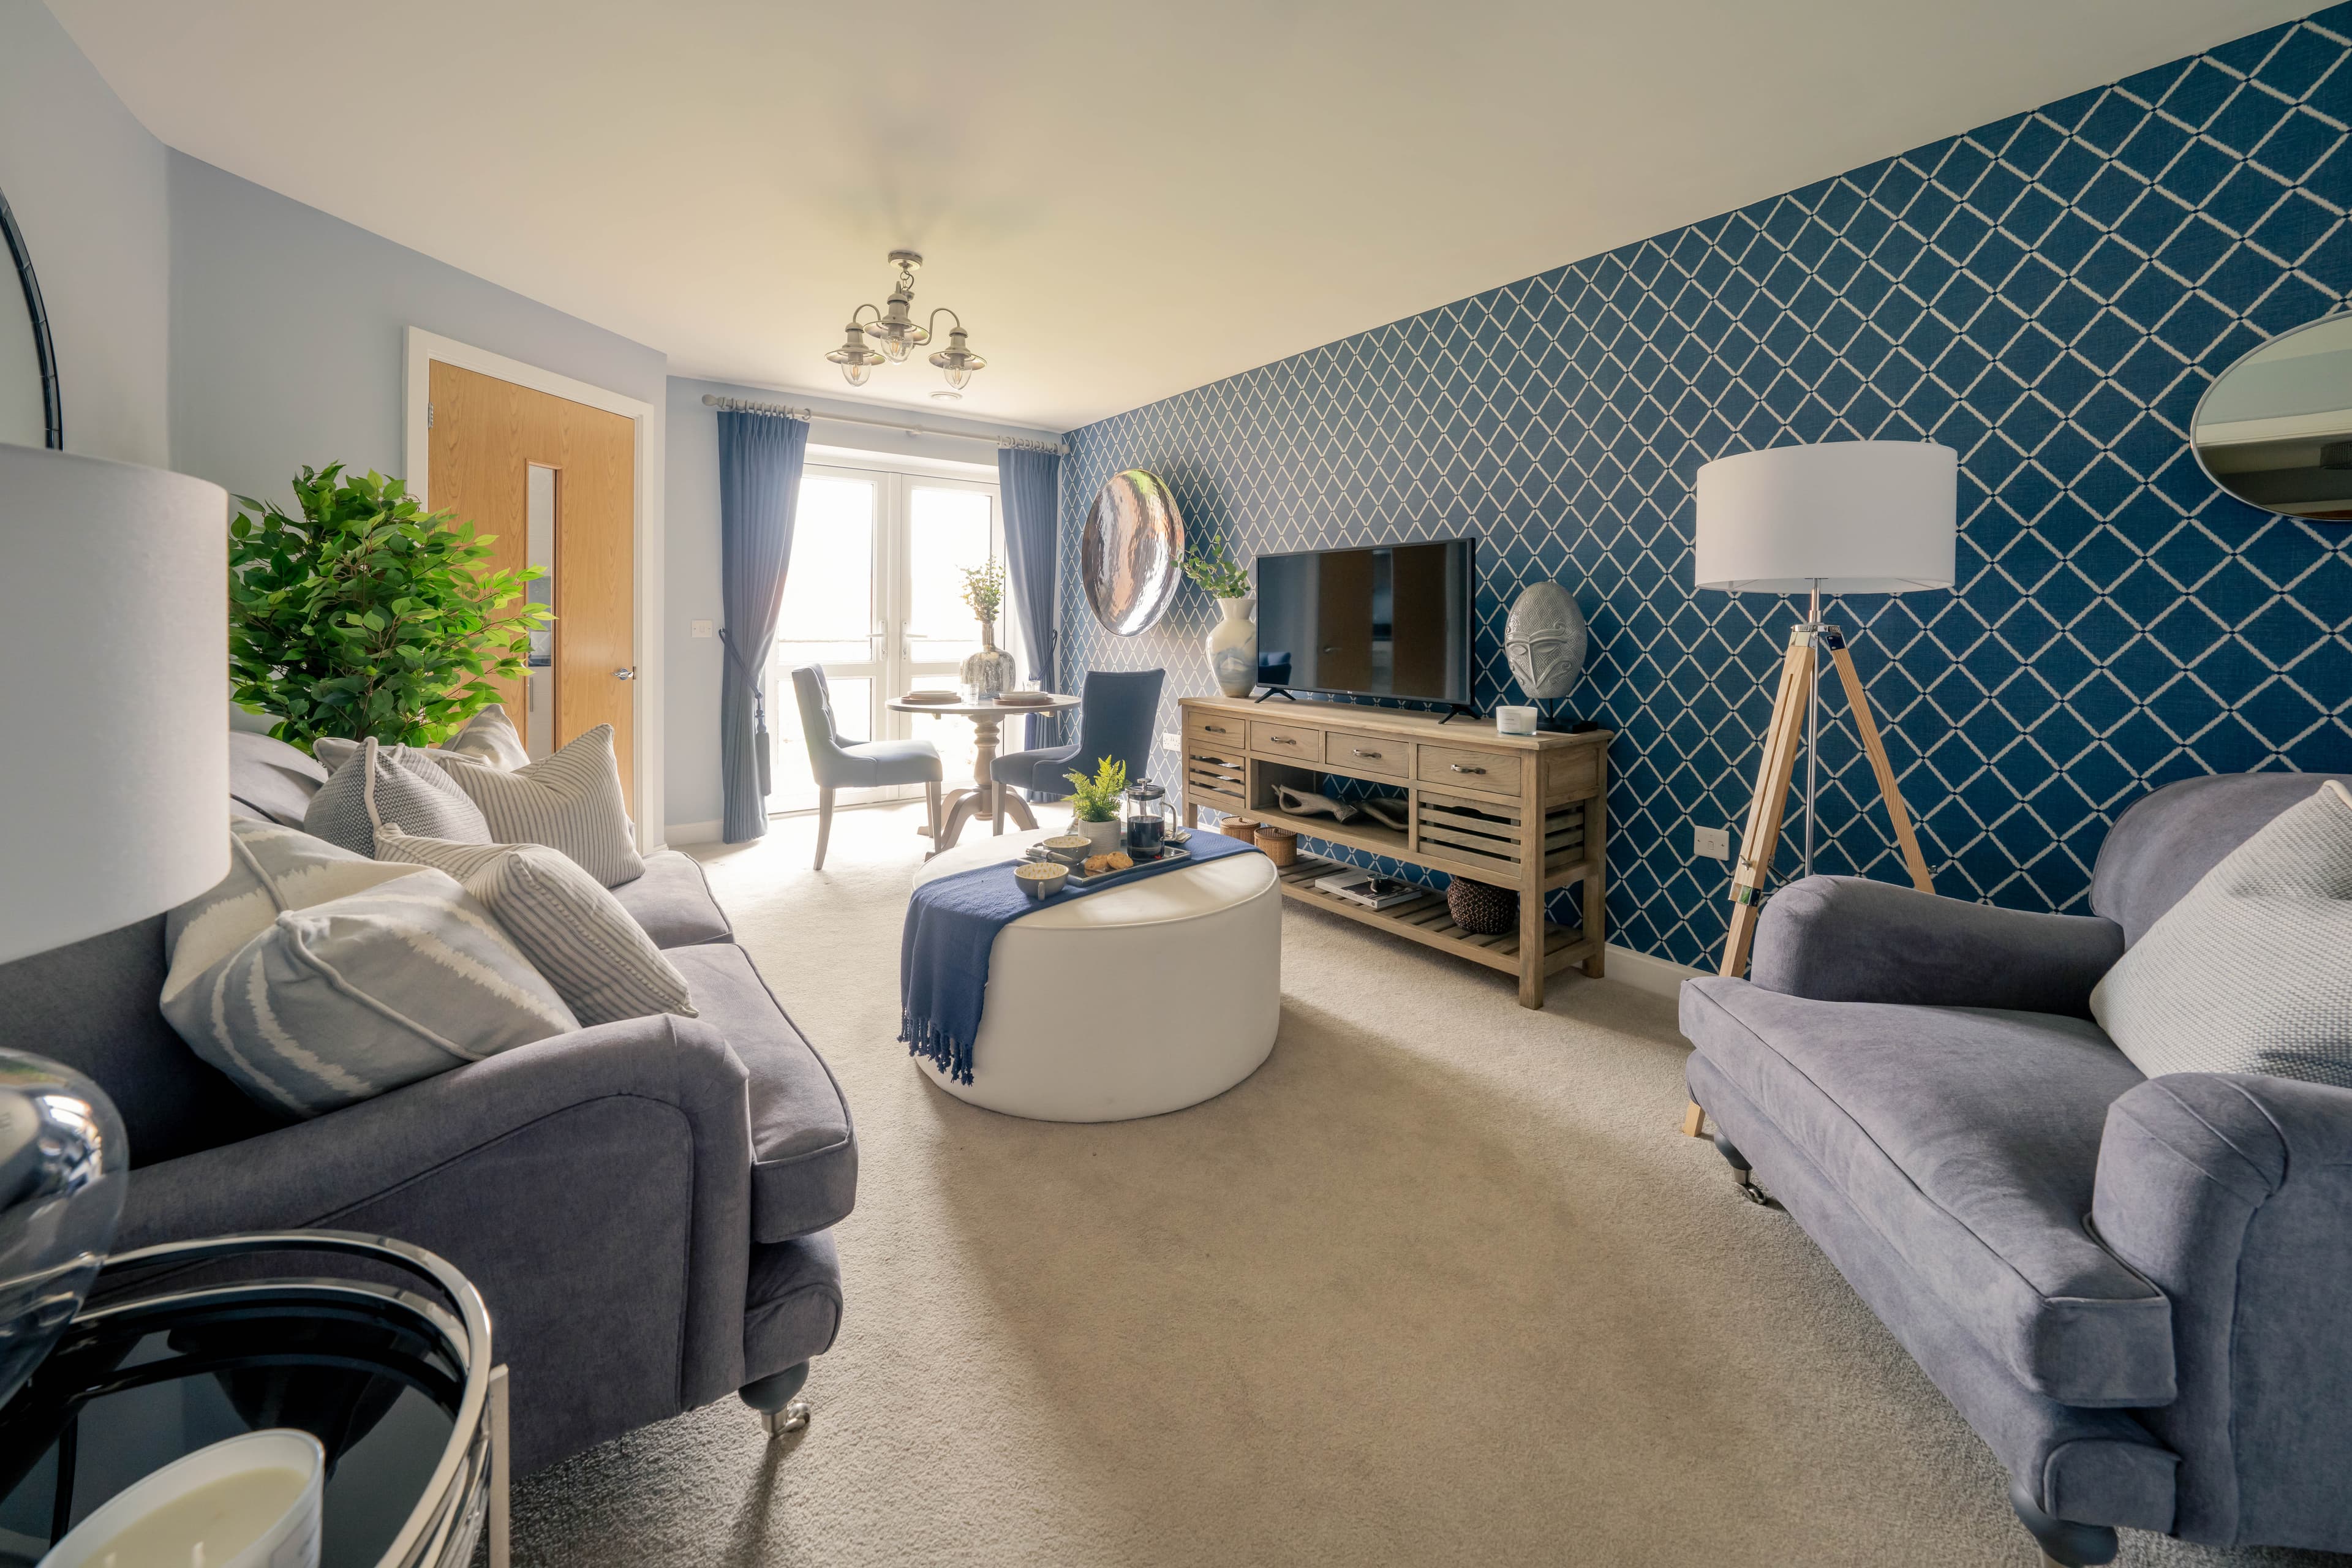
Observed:
[[[2176,1533],[2352,1540],[2352,1088],[2150,1079],[2107,1107],[2091,1222],[2173,1302]]]

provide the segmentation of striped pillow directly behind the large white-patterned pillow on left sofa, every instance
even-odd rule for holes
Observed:
[[[449,844],[386,827],[376,835],[376,858],[456,877],[583,1025],[654,1013],[694,1018],[687,978],[569,856],[546,844]]]

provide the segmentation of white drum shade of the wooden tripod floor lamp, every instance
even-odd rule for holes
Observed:
[[[1698,588],[1950,588],[1957,541],[1959,454],[1936,442],[1769,447],[1698,470]]]

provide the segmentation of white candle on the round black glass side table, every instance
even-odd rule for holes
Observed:
[[[40,1568],[318,1568],[325,1476],[308,1432],[247,1432],[115,1493]]]

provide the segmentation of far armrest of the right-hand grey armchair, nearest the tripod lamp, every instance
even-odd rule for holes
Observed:
[[[2091,1016],[2091,987],[2124,957],[2096,914],[2027,914],[1867,877],[1806,877],[1771,896],[1750,978],[1813,1001],[1992,1006]]]

